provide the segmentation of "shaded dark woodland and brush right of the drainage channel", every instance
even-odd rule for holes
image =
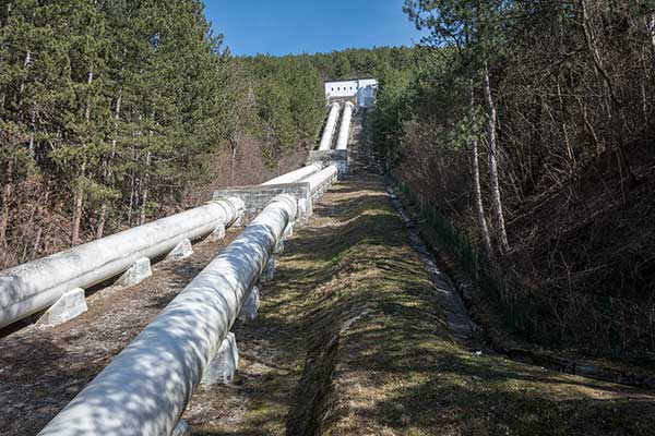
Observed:
[[[655,352],[655,4],[407,0],[419,68],[383,75],[379,152],[441,249],[541,346]]]

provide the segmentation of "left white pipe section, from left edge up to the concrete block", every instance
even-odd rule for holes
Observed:
[[[0,271],[0,328],[47,308],[68,291],[119,275],[141,258],[167,254],[184,239],[228,227],[242,213],[240,198],[211,202]]]

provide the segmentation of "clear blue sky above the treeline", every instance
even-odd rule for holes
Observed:
[[[412,46],[419,33],[403,0],[204,0],[233,55],[329,52]]]

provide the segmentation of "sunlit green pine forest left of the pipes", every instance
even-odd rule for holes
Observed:
[[[295,169],[323,107],[318,69],[238,61],[200,0],[3,1],[0,268]]]

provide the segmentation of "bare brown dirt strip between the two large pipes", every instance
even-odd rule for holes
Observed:
[[[38,433],[235,238],[193,246],[179,262],[153,266],[130,288],[87,299],[88,312],[55,328],[24,327],[0,339],[0,434]]]

